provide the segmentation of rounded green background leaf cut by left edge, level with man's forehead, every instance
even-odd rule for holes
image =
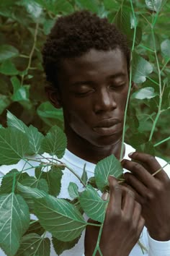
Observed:
[[[6,59],[11,59],[19,56],[19,51],[14,46],[1,45],[0,46],[0,62],[6,61]]]

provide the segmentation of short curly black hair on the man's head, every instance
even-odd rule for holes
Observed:
[[[107,18],[89,11],[79,11],[55,22],[42,49],[46,80],[58,88],[58,72],[62,59],[79,57],[91,48],[109,51],[119,47],[130,66],[130,49],[125,35]]]

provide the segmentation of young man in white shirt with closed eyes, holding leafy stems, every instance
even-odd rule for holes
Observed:
[[[69,150],[64,158],[79,172],[87,162],[90,175],[95,163],[108,155],[120,158],[130,66],[125,36],[106,19],[86,11],[76,12],[58,19],[42,54],[50,83],[46,88],[48,98],[53,106],[63,108]],[[129,145],[124,150],[126,160],[122,166],[131,172],[125,174],[130,190],[109,177],[102,254],[143,255],[136,244],[143,230],[146,255],[170,255],[169,177],[165,171],[152,175],[161,166],[151,155],[128,155],[133,150]],[[67,180],[68,176],[63,177],[63,187],[67,187]],[[66,190],[62,196],[67,197]],[[86,229],[85,255],[93,254],[98,233],[96,227]],[[74,248],[74,255],[84,253],[80,243],[83,241]]]

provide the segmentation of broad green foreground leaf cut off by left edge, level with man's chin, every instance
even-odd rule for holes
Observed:
[[[24,158],[29,142],[23,132],[8,127],[0,129],[0,164],[13,164]]]

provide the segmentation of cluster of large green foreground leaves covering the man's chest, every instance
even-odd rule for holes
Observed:
[[[73,171],[62,162],[66,149],[62,129],[52,127],[44,136],[9,111],[7,124],[8,127],[0,129],[0,164],[9,166],[0,187],[0,247],[9,256],[48,256],[53,242],[55,252],[61,255],[79,241],[89,224],[84,213],[99,223],[104,222],[107,201],[102,200],[99,191],[108,189],[109,175],[117,179],[122,175],[120,162],[110,155],[97,163],[94,171],[97,189],[90,184],[84,166],[82,176],[77,176],[84,184],[83,191],[79,192],[77,184],[70,182],[71,200],[61,199],[58,195],[63,172],[65,168]],[[11,170],[10,165],[19,161],[22,169]],[[35,221],[31,220],[31,214]],[[48,233],[52,239],[47,237]]]

